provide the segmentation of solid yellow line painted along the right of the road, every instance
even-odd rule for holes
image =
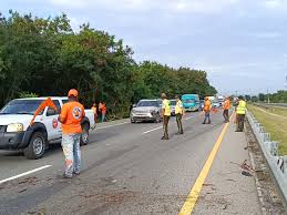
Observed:
[[[185,201],[185,203],[184,203],[184,205],[183,205],[183,207],[180,212],[180,215],[191,215],[192,214],[192,212],[195,207],[196,201],[197,201],[197,198],[199,196],[199,193],[202,191],[203,184],[204,184],[204,182],[205,182],[205,180],[206,180],[206,177],[209,173],[209,170],[213,165],[214,158],[215,158],[215,156],[218,152],[218,149],[219,149],[219,146],[223,142],[223,139],[224,139],[224,135],[227,131],[228,125],[229,125],[229,123],[225,124],[219,137],[217,139],[217,141],[216,141],[216,143],[213,147],[213,151],[211,152],[208,158],[206,160],[202,172],[199,173],[189,195],[187,196],[187,198],[186,198],[186,201]]]

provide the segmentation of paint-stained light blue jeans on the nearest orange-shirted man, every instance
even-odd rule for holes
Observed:
[[[80,174],[81,171],[81,150],[80,150],[81,134],[63,134],[62,149],[65,156],[66,176],[73,176],[73,173]]]

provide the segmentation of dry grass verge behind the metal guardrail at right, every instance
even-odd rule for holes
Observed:
[[[250,113],[256,117],[256,120],[259,123],[262,123],[266,132],[271,134],[271,140],[279,142],[279,154],[287,155],[287,120],[285,117],[278,117],[268,114],[271,112],[264,112],[266,110],[262,111],[257,106],[250,104],[248,104],[248,111],[250,111]],[[285,110],[285,112],[287,112],[287,110]],[[276,112],[275,114],[283,115],[279,114],[279,112]],[[286,114],[287,116],[287,113],[284,114]]]

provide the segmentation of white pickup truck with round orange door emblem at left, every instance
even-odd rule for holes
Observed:
[[[48,98],[29,98],[10,101],[0,111],[0,150],[23,150],[28,158],[43,156],[50,143],[61,142],[62,125],[58,122],[59,114],[51,108],[45,108],[35,116],[30,125],[35,110]],[[51,98],[58,110],[68,102],[68,98]],[[81,145],[89,143],[89,131],[94,127],[92,110],[85,110],[82,121]]]

